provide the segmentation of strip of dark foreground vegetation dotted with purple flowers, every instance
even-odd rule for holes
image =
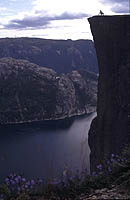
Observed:
[[[91,194],[102,188],[116,187],[130,195],[130,146],[124,148],[121,156],[112,154],[110,160],[97,165],[97,169],[88,175],[87,171],[74,174],[64,171],[60,181],[27,180],[23,175],[10,174],[0,186],[0,200],[30,199],[76,199],[81,194]],[[43,198],[42,198],[43,199]]]

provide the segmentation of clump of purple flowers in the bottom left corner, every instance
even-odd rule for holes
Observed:
[[[18,198],[23,196],[29,199],[30,194],[40,192],[43,186],[43,180],[27,180],[23,175],[10,174],[0,186],[0,200]],[[22,199],[23,199],[22,197]],[[12,199],[13,200],[13,199]]]

